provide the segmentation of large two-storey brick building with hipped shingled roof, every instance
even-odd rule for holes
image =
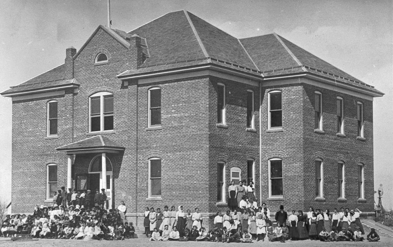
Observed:
[[[130,32],[99,26],[12,97],[13,213],[61,186],[145,206],[258,204],[372,212],[372,101],[383,93],[277,34],[237,39],[187,11]],[[142,220],[138,217],[137,221]]]

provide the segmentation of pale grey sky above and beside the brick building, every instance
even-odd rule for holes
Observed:
[[[236,38],[276,32],[385,93],[374,99],[374,187],[393,208],[393,1],[111,0],[112,28],[130,31],[188,10]],[[64,62],[107,24],[107,0],[1,0],[0,91]],[[10,98],[0,96],[0,197],[11,198]],[[15,147],[17,148],[17,147]]]

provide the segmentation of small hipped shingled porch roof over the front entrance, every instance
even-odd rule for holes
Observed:
[[[57,151],[65,151],[67,154],[82,153],[119,153],[125,147],[101,135],[89,137],[71,144],[56,148]]]

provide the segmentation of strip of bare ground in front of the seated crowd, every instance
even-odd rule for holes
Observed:
[[[220,246],[243,246],[243,244],[226,244],[226,243],[212,243],[212,242],[149,242],[146,238],[143,239],[130,239],[124,241],[84,241],[84,240],[33,240],[33,241],[10,241],[0,239],[0,247],[70,247],[70,246],[84,246],[84,247],[220,247]],[[392,247],[393,239],[388,237],[382,237],[380,242],[335,242],[335,243],[324,243],[320,241],[287,241],[285,244],[280,242],[255,242],[253,244],[245,246],[288,246],[288,247],[337,247],[337,246],[361,246],[361,247]]]

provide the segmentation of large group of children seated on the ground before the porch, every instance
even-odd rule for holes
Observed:
[[[36,206],[32,215],[6,216],[2,223],[3,237],[30,235],[45,239],[124,240],[134,238],[133,223],[125,222],[119,210],[106,210],[104,205],[85,210],[84,206],[64,208]]]

